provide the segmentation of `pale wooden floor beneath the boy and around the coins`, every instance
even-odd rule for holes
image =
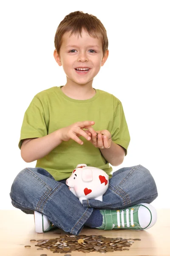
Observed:
[[[170,256],[170,209],[158,209],[158,219],[156,224],[148,230],[98,230],[85,227],[80,235],[100,234],[105,237],[139,238],[135,241],[129,251],[114,251],[105,253],[106,256]],[[61,234],[54,234],[60,231]],[[31,239],[52,239],[66,234],[63,230],[50,230],[45,233],[35,233],[34,215],[28,215],[19,209],[0,210],[0,255],[2,256],[40,256],[47,254],[54,255],[53,252],[44,248],[37,250]],[[68,235],[70,233],[67,233]],[[25,248],[25,245],[31,245]],[[67,254],[67,253],[65,253]],[[65,255],[63,254],[63,255]],[[73,251],[71,256],[82,256],[86,253]],[[61,255],[60,253],[58,255]],[[101,256],[99,252],[90,252],[88,256]]]

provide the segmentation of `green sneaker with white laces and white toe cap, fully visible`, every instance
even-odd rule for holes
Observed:
[[[103,215],[102,230],[133,229],[145,230],[152,227],[157,220],[156,209],[151,204],[136,204],[119,210],[100,210]]]

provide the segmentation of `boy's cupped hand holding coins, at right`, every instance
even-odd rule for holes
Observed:
[[[111,146],[111,133],[108,130],[96,131],[91,133],[90,131],[85,131],[90,137],[90,142],[96,148],[110,148]],[[103,135],[102,135],[103,134]]]

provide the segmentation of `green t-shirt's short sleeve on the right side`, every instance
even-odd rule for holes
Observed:
[[[122,146],[125,150],[125,156],[127,155],[127,148],[130,143],[130,134],[125,119],[125,113],[123,111],[122,102],[118,101],[113,116],[113,125],[111,128],[111,138],[114,143]]]

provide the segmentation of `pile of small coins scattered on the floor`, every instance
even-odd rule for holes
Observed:
[[[129,250],[130,245],[134,241],[140,241],[141,239],[123,239],[122,237],[106,238],[105,236],[97,235],[63,235],[55,239],[40,239],[37,240],[37,244],[40,248],[37,250],[43,250],[46,248],[53,251],[53,253],[71,253],[72,251],[81,251],[83,253],[90,253],[92,251],[99,253],[113,252]],[[30,240],[36,241],[36,240]],[[45,255],[45,254],[42,254]],[[69,255],[69,254],[67,254]]]

